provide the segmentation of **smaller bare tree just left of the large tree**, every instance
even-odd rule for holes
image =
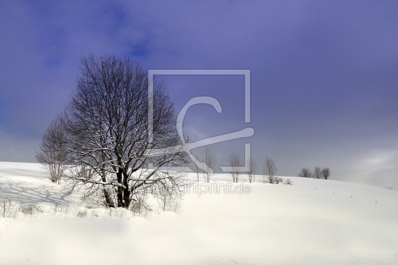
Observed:
[[[65,160],[68,153],[63,149],[66,144],[66,132],[59,119],[50,123],[40,144],[40,151],[36,153],[37,161],[50,174],[50,180],[60,183],[64,175]]]

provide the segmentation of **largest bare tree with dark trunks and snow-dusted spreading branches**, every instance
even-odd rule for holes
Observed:
[[[158,182],[178,184],[181,173],[167,169],[187,159],[165,87],[149,84],[146,72],[128,58],[89,56],[81,62],[61,118],[67,144],[60,150],[68,153],[69,165],[85,165],[93,174],[69,174],[71,189],[83,188],[86,199],[108,207],[129,208]]]

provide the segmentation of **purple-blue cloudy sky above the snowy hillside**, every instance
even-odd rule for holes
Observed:
[[[279,174],[398,188],[397,1],[1,1],[0,161],[33,162],[79,60],[130,56],[146,69],[250,69],[255,135],[211,146],[217,165],[252,143]],[[244,123],[243,77],[159,77],[176,111],[193,96],[193,140]],[[198,150],[197,152],[200,152]]]

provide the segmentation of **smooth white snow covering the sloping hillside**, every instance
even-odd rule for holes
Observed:
[[[80,203],[46,176],[38,164],[0,162],[0,197],[46,209]],[[0,217],[0,264],[398,264],[396,190],[291,179],[245,182],[249,194],[191,192],[179,215],[110,217],[81,205],[87,217]]]

